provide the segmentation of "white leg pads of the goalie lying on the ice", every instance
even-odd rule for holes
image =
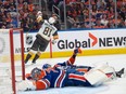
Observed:
[[[116,78],[114,68],[108,65],[98,66],[85,73],[84,77],[94,86],[103,84],[111,78]]]

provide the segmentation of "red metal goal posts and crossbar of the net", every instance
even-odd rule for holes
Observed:
[[[14,64],[14,41],[13,41],[13,33],[20,32],[21,37],[21,63],[22,63],[22,79],[25,80],[25,65],[24,65],[24,38],[23,38],[23,30],[22,29],[10,29],[10,53],[11,53],[11,69],[12,69],[12,86],[14,94],[16,94],[16,85],[15,85],[15,64]]]

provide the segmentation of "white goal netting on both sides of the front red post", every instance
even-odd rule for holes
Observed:
[[[12,52],[14,51],[14,72],[15,79],[22,80],[22,48],[21,48],[21,32],[13,30],[10,36],[10,29],[0,29],[0,94],[15,94],[12,83]],[[12,37],[13,42],[10,41]],[[11,45],[11,46],[10,46]]]

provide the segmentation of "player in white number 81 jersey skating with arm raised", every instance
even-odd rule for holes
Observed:
[[[54,23],[56,22],[58,16],[52,15],[49,19],[42,19],[42,13],[39,11],[37,13],[37,23],[42,24],[39,31],[36,35],[36,40],[34,41],[30,51],[26,55],[25,64],[29,61],[29,58],[36,53],[35,57],[33,58],[33,64],[36,63],[36,61],[41,55],[41,52],[45,52],[50,39],[52,39],[52,43],[55,42],[55,39],[59,39],[58,36],[58,29],[54,26]]]

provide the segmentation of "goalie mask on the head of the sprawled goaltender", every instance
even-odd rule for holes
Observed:
[[[46,71],[36,67],[32,70],[30,75],[32,75],[32,79],[37,81],[46,76]]]

